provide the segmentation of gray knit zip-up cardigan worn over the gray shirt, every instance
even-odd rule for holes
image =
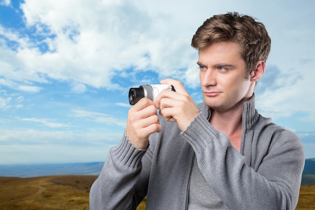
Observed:
[[[304,152],[299,138],[255,109],[243,105],[241,152],[209,123],[209,108],[181,132],[160,117],[160,133],[149,136],[146,150],[126,134],[111,149],[90,191],[90,209],[187,209],[193,159],[207,183],[229,209],[294,209],[299,195]]]

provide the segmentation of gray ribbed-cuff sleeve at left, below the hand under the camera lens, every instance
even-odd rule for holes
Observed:
[[[136,209],[147,190],[148,172],[142,170],[143,164],[143,168],[150,165],[146,155],[150,152],[147,150],[135,148],[126,134],[123,136],[120,144],[110,150],[99,177],[91,187],[91,210]]]

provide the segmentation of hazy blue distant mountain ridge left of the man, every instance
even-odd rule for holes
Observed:
[[[39,164],[39,165],[0,165],[0,176],[38,177],[52,175],[95,175],[101,172],[104,162]]]

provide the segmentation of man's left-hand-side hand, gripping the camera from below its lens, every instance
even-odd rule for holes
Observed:
[[[129,109],[126,133],[136,148],[145,149],[149,143],[149,135],[161,130],[156,106],[151,100],[142,98]]]

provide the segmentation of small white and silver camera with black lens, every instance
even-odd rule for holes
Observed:
[[[141,85],[139,88],[130,88],[129,90],[129,104],[135,105],[141,98],[148,98],[155,101],[164,89],[175,91],[172,85]]]

